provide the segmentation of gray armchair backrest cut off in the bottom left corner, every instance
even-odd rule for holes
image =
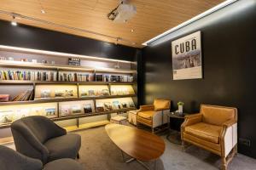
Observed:
[[[4,170],[41,170],[43,164],[37,159],[23,156],[6,146],[0,145],[0,169]]]

